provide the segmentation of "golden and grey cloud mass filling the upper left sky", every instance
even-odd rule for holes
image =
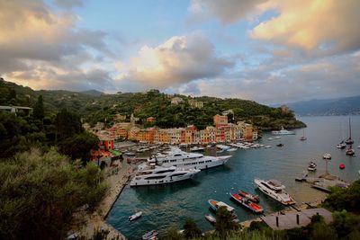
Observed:
[[[40,0],[0,1],[0,9],[0,74],[6,80],[35,89],[104,89],[94,77],[109,81],[99,62],[114,56],[105,32],[77,29],[75,14],[54,13]]]

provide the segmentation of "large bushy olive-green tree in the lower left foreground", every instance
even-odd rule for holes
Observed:
[[[103,199],[103,173],[79,168],[51,148],[0,163],[0,239],[64,239],[76,210]]]

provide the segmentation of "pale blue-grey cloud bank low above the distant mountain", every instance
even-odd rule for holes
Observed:
[[[298,66],[246,67],[241,72],[199,80],[196,95],[233,97],[264,104],[326,99],[360,93],[360,56],[341,55]],[[346,70],[344,70],[346,69]],[[183,89],[181,93],[192,94]]]

